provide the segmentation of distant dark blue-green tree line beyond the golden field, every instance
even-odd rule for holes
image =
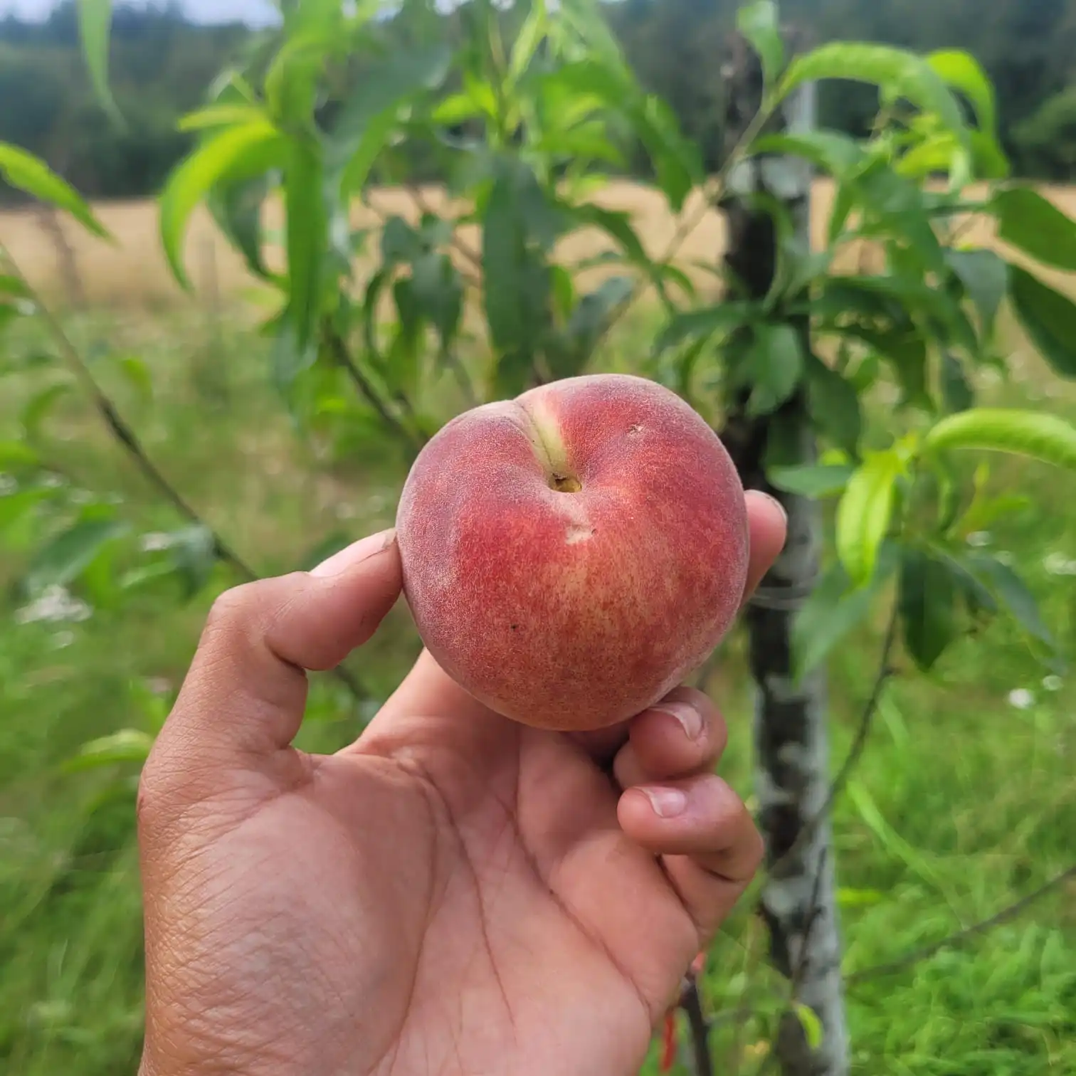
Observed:
[[[783,0],[781,6],[809,43],[840,38],[968,49],[994,81],[1003,140],[1017,170],[1050,180],[1076,176],[1076,0]],[[409,10],[405,5],[394,20],[399,25],[386,24],[384,32],[413,32],[402,25]],[[522,10],[521,2],[504,17],[515,22]],[[722,153],[721,67],[735,11],[735,0],[607,2],[613,32],[640,80],[669,102],[711,165]],[[424,17],[426,33],[434,18],[442,24],[434,32],[452,34],[466,4],[443,15],[427,8]],[[118,128],[90,91],[75,0],[63,0],[42,23],[9,15],[0,19],[0,140],[41,155],[91,197],[153,194],[189,145],[178,118],[256,40],[242,24],[192,23],[174,0],[118,6],[111,58],[126,121]],[[360,80],[362,61],[349,74]],[[859,131],[874,113],[872,93],[829,87],[821,101],[825,123]],[[438,176],[436,160],[409,165]]]

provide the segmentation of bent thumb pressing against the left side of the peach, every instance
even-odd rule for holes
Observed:
[[[306,670],[335,668],[366,642],[401,585],[395,533],[386,530],[313,571],[225,591],[147,767],[208,777],[286,748],[302,723]]]

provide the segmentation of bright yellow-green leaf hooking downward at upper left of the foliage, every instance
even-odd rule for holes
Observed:
[[[268,121],[229,127],[201,143],[171,173],[160,195],[160,239],[176,281],[190,287],[183,240],[195,207],[217,184],[251,180],[284,164],[286,143]]]

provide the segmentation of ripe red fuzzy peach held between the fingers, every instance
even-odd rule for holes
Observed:
[[[508,718],[594,730],[707,657],[748,562],[744,487],[702,416],[643,378],[568,378],[449,422],[397,538],[438,664]]]

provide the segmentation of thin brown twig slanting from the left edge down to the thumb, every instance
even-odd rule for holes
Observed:
[[[89,367],[86,366],[82,355],[79,354],[79,349],[75,348],[71,338],[65,331],[63,326],[60,325],[56,315],[42,300],[40,294],[29,282],[18,264],[12,257],[11,252],[2,243],[0,243],[0,255],[3,256],[3,259],[8,264],[12,273],[26,289],[27,296],[34,305],[38,317],[41,320],[42,324],[56,342],[60,356],[66,362],[75,380],[86,392],[86,395],[94,405],[97,414],[100,416],[101,421],[108,427],[112,436],[124,447],[127,455],[134,462],[136,466],[148,480],[150,484],[180,513],[180,515],[183,516],[183,519],[185,519],[193,526],[200,527],[210,536],[210,540],[213,543],[213,555],[218,561],[227,564],[247,582],[258,579],[258,574],[198,514],[197,511],[195,511],[186,498],[180,493],[179,490],[175,489],[175,486],[171,484],[171,482],[168,481],[167,478],[165,478],[161,471],[157,468],[156,464],[154,464],[154,462],[150,458],[142,445],[142,442],[139,440],[138,435],[127,424],[124,417],[116,410],[115,405],[111,399],[109,399],[109,397],[104,394],[104,391],[97,383],[97,380],[90,372]],[[369,697],[368,693],[355,676],[342,665],[332,669],[332,675],[348,689],[348,691],[351,692],[356,702],[364,702],[367,697]]]

